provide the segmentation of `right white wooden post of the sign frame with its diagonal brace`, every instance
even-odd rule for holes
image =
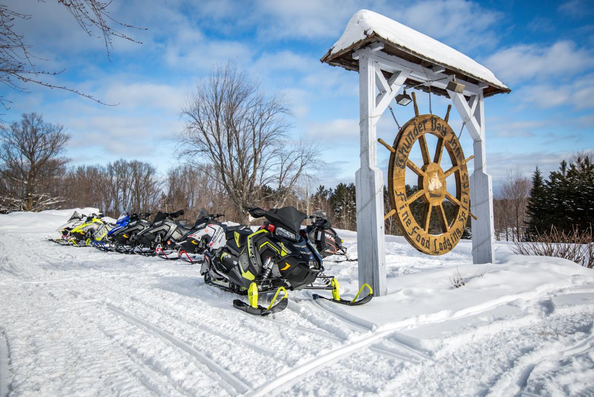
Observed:
[[[472,262],[495,261],[495,228],[493,220],[493,186],[486,173],[485,107],[482,91],[470,99],[472,108],[462,94],[448,91],[456,110],[466,120],[474,141],[475,171],[470,176],[470,209],[478,220],[472,220]]]

